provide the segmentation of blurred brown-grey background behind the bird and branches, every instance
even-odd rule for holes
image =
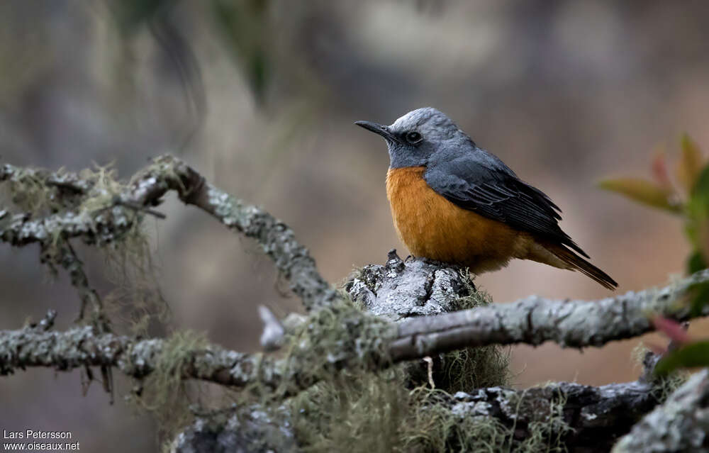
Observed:
[[[682,274],[689,246],[679,220],[596,183],[647,174],[683,131],[709,147],[708,17],[699,0],[5,0],[0,156],[50,169],[113,162],[130,177],[175,153],[284,220],[338,282],[392,247],[408,253],[386,201],[386,146],[352,122],[435,106],[549,194],[564,230],[618,291],[634,291]],[[146,230],[179,328],[251,351],[259,303],[301,309],[250,240],[174,197],[160,210],[167,220]],[[79,253],[110,292],[101,257]],[[476,284],[498,303],[610,295],[532,262]],[[0,246],[0,288],[0,329],[48,308],[57,329],[76,317],[69,279],[49,278],[34,247]],[[515,384],[636,379],[635,345],[514,347]],[[84,451],[153,451],[155,426],[122,401],[130,385],[118,379],[109,406],[99,385],[82,397],[78,372],[4,377],[0,429],[69,430]]]

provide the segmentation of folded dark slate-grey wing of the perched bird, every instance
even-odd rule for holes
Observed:
[[[437,162],[428,167],[424,179],[431,189],[461,208],[561,243],[588,258],[559,228],[559,207],[484,150]]]

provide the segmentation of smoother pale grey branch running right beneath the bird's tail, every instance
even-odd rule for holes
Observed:
[[[602,346],[613,340],[654,330],[652,315],[678,321],[695,316],[678,303],[691,286],[709,281],[703,270],[661,289],[628,292],[600,301],[554,301],[530,296],[437,316],[408,318],[398,323],[390,353],[394,361],[425,357],[470,346],[540,345]],[[700,315],[709,315],[709,306]]]

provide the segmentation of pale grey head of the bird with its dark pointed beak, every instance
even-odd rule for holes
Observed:
[[[432,107],[410,111],[388,126],[371,121],[354,124],[386,140],[391,168],[426,167],[431,160],[476,150],[475,143],[466,133],[445,113]]]

